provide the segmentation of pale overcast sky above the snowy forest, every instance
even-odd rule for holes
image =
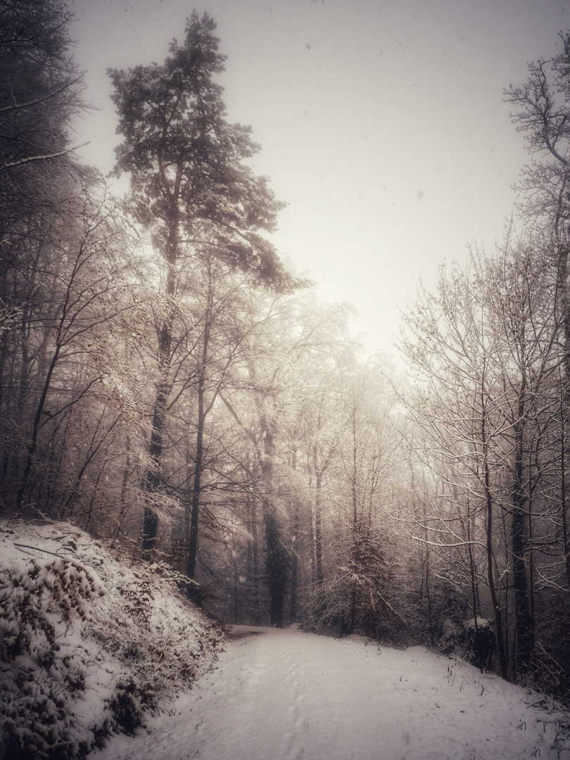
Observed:
[[[527,160],[502,89],[561,49],[570,0],[70,0],[74,57],[100,111],[81,154],[112,169],[106,69],[163,62],[196,8],[228,55],[228,120],[252,125],[255,170],[287,208],[274,244],[347,301],[369,350],[392,353],[420,275],[491,249]]]

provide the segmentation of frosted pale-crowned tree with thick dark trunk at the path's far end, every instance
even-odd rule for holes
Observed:
[[[306,484],[312,478],[307,460],[315,435],[312,416],[321,375],[330,374],[331,357],[346,340],[346,309],[321,305],[313,294],[257,300],[249,355],[221,397],[245,435],[241,461],[251,483],[251,565],[257,565],[258,538],[260,546],[264,539],[270,621],[279,627],[286,618],[287,591],[293,597],[290,613],[296,615],[297,598],[305,591],[299,575],[314,562],[314,496]],[[257,535],[254,505],[263,537]]]

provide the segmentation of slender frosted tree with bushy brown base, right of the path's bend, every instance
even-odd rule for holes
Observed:
[[[326,549],[312,618],[317,627],[328,625],[344,635],[377,636],[387,621],[398,618],[390,602],[397,560],[386,540],[390,483],[399,470],[392,394],[383,382],[389,371],[383,356],[345,371],[337,440],[326,470],[328,519],[321,525]]]

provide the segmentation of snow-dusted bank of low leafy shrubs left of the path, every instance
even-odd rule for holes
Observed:
[[[132,733],[220,644],[165,568],[68,524],[0,521],[0,758],[83,758]]]

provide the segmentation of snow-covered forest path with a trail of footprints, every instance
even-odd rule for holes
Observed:
[[[291,629],[229,641],[217,668],[92,760],[568,758],[537,695],[416,647]],[[559,716],[562,720],[562,716]]]

